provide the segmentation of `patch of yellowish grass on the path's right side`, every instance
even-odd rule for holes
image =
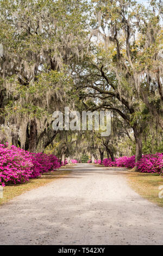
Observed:
[[[127,173],[128,184],[143,198],[163,207],[163,198],[159,198],[159,186],[163,185],[163,177],[154,173]]]

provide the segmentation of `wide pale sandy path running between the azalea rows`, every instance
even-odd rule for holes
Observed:
[[[128,186],[123,168],[78,164],[0,207],[1,245],[162,245],[163,210]]]

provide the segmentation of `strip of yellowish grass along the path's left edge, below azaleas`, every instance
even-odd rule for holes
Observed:
[[[26,191],[32,190],[33,188],[37,188],[40,186],[45,186],[46,184],[54,181],[55,179],[63,178],[65,175],[71,173],[71,170],[66,170],[68,168],[70,168],[70,166],[66,166],[62,170],[57,170],[55,172],[44,173],[42,174],[41,178],[30,179],[24,184],[5,186],[3,188],[3,198],[0,198],[0,205],[8,202],[16,196],[20,196],[20,194]]]

